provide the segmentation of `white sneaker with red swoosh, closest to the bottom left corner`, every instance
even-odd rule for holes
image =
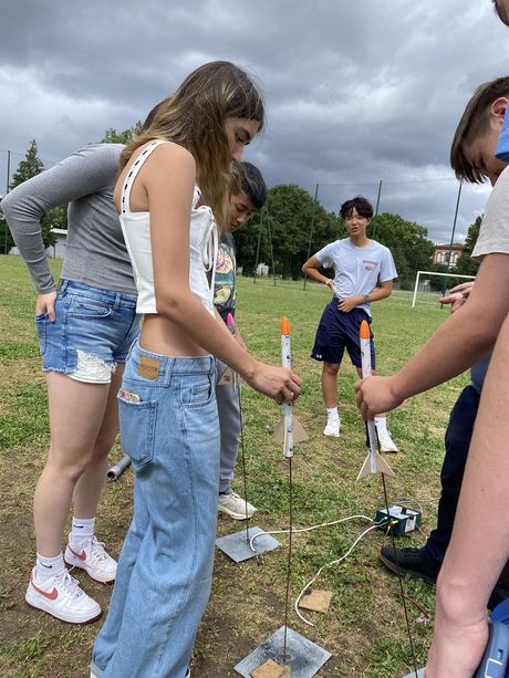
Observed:
[[[101,606],[80,588],[77,580],[66,570],[39,584],[34,570],[24,599],[32,607],[70,624],[89,624],[101,616]]]

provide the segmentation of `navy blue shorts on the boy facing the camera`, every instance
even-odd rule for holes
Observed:
[[[343,313],[337,309],[337,300],[333,299],[326,306],[320,320],[314,337],[311,357],[325,363],[341,363],[344,350],[355,367],[361,367],[361,343],[359,332],[363,320],[370,323],[371,365],[375,369],[375,346],[371,331],[371,317],[364,309],[353,309]]]

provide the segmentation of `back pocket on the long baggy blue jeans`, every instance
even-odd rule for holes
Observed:
[[[133,467],[142,469],[154,457],[157,401],[135,401],[118,395],[118,417],[122,448]]]

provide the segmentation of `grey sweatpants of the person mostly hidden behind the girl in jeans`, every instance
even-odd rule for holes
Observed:
[[[219,384],[225,369],[225,363],[217,359],[217,388],[216,399],[221,430],[221,458],[219,470],[219,492],[228,492],[233,478],[235,462],[239,453],[240,440],[240,408],[239,389],[233,388],[232,382]]]

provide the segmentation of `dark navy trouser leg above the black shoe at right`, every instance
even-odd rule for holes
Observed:
[[[440,567],[449,545],[479,400],[480,394],[474,386],[467,386],[450,413],[445,435],[446,453],[440,472],[442,494],[437,526],[420,550],[423,560],[435,567]]]

